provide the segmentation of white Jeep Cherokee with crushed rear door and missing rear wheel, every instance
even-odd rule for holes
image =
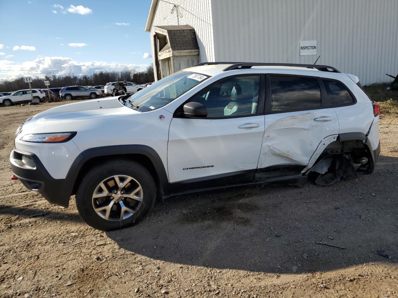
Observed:
[[[51,108],[15,134],[15,176],[100,230],[157,196],[373,172],[380,108],[331,66],[201,63],[134,95]],[[14,177],[15,178],[15,177]]]

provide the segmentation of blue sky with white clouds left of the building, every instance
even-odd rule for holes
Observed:
[[[150,0],[0,0],[0,79],[152,64]]]

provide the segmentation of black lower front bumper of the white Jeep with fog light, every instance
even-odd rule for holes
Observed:
[[[29,156],[35,168],[21,161],[22,155]],[[22,150],[13,149],[10,155],[11,170],[29,190],[39,192],[49,203],[68,207],[72,189],[65,179],[54,179],[45,169],[39,158]]]

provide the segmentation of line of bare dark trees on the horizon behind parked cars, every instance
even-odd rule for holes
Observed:
[[[33,89],[44,89],[44,81],[50,81],[51,87],[65,87],[71,85],[80,86],[95,86],[105,85],[108,82],[123,81],[134,82],[137,84],[144,84],[153,82],[154,74],[153,67],[148,66],[146,70],[138,72],[136,69],[125,69],[120,72],[116,71],[101,71],[96,72],[92,75],[46,75],[44,78],[32,78],[31,83]],[[20,89],[28,89],[28,84],[25,83],[23,77],[19,77],[13,80],[0,81],[0,92],[17,91]]]

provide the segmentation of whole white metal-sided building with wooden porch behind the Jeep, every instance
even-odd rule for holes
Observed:
[[[398,0],[152,0],[145,30],[156,79],[197,62],[314,64],[320,56],[317,64],[366,85],[398,74],[397,13]],[[194,29],[196,46],[182,25]],[[178,50],[167,49],[169,35]]]

